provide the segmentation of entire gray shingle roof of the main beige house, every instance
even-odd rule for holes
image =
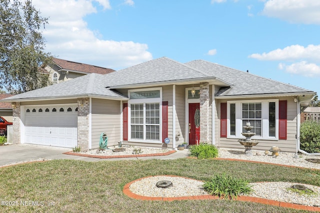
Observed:
[[[6,100],[36,100],[67,97],[99,96],[104,98],[122,99],[127,97],[109,87],[129,85],[166,83],[192,79],[218,79],[232,84],[221,87],[216,94],[219,97],[236,95],[290,94],[313,92],[290,84],[263,78],[251,73],[239,71],[204,60],[194,60],[179,63],[172,59],[161,57],[137,64],[105,75],[91,73],[71,81],[54,84],[9,97]]]

